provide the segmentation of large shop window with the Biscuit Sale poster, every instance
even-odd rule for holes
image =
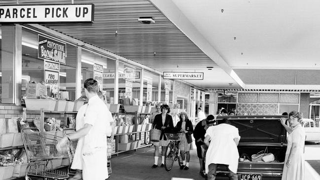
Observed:
[[[30,98],[28,84],[35,82],[47,96],[75,100],[76,53],[71,44],[22,29],[21,95]]]

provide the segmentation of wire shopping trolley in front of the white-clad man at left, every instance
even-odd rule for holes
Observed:
[[[21,134],[28,158],[25,180],[31,180],[29,176],[42,177],[44,180],[69,178],[66,172],[47,167],[49,160],[69,156],[68,144],[62,144],[59,151],[56,148],[63,137],[41,133],[38,128],[23,128]]]

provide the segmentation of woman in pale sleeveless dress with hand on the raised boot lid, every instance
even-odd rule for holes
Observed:
[[[287,137],[282,180],[304,180],[304,141],[306,134],[300,124],[302,114],[297,111],[289,113],[292,132]],[[284,125],[282,120],[281,122]],[[285,126],[285,125],[284,125]]]

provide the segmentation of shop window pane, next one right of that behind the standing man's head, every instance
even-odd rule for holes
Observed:
[[[141,69],[119,62],[119,104],[139,105]]]

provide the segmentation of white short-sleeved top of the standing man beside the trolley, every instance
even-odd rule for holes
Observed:
[[[107,147],[107,136],[112,133],[110,122],[113,118],[107,105],[98,96],[90,98],[84,124],[90,124],[92,128],[84,138],[84,153],[92,152],[97,147]]]

